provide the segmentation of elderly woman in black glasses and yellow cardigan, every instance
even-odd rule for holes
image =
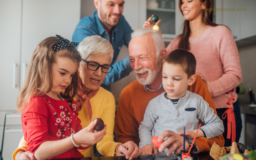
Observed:
[[[128,141],[124,144],[114,142],[116,103],[113,94],[100,87],[105,76],[112,71],[112,45],[100,36],[88,36],[78,45],[82,61],[79,67],[80,90],[76,94],[76,108],[81,125],[88,126],[95,118],[101,118],[107,125],[107,134],[97,143],[97,150],[103,156],[124,156],[132,159],[141,154],[137,145]],[[72,126],[70,126],[72,127]],[[27,150],[27,142],[22,138],[13,159],[34,159]],[[93,157],[93,145],[79,150],[84,157]]]

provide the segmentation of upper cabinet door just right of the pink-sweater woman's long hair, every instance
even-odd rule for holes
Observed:
[[[223,1],[223,24],[231,29],[235,41],[241,39],[240,36],[240,11],[232,11],[232,9],[240,8],[240,0],[224,0]],[[225,10],[225,11],[224,11]],[[218,12],[218,11],[217,11]]]

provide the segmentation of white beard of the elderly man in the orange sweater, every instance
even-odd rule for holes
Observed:
[[[151,71],[149,70],[148,68],[141,68],[140,70],[136,71],[134,70],[134,73],[135,73],[135,76],[139,82],[139,84],[142,84],[142,85],[149,85],[151,84],[154,79],[156,78],[156,75],[158,74],[158,72],[160,71],[161,69],[161,57],[159,56],[156,60],[156,70],[154,71]],[[147,78],[141,78],[139,77],[138,74],[141,74],[141,73],[144,73],[148,71],[148,77]]]

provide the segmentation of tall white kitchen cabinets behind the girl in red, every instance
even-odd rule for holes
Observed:
[[[56,34],[72,40],[80,20],[80,0],[0,0],[0,142],[4,114],[16,109],[17,95],[23,84],[27,65],[37,44]],[[16,113],[20,114],[20,113]],[[8,116],[3,158],[12,159],[23,136],[20,115]]]

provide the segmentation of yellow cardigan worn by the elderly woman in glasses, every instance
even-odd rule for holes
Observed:
[[[74,98],[76,101],[77,99]],[[92,120],[95,118],[101,118],[104,124],[107,124],[107,134],[103,137],[103,140],[97,143],[97,150],[103,156],[114,156],[116,145],[114,142],[114,125],[115,125],[115,112],[116,102],[113,94],[104,88],[100,87],[98,92],[90,99],[92,106]],[[82,109],[78,112],[78,118],[81,119],[81,125],[87,127],[91,122],[89,120],[88,111],[86,108],[86,102]],[[19,150],[28,151],[27,142],[24,137],[20,140],[19,147],[14,151],[12,158],[15,160],[16,153]],[[79,150],[79,149],[78,149]],[[93,145],[84,150],[79,150],[84,157],[94,157]]]

